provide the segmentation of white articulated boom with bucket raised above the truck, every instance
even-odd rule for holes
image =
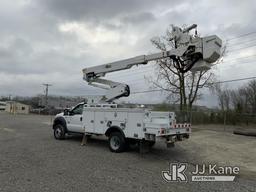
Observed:
[[[126,84],[100,78],[107,73],[130,69],[134,65],[145,65],[150,61],[165,58],[170,58],[181,73],[209,70],[212,64],[220,58],[222,41],[216,35],[202,38],[190,35],[189,31],[195,27],[194,24],[182,30],[173,26],[170,40],[174,41],[175,48],[171,50],[85,68],[83,69],[83,79],[89,85],[107,89],[102,102],[112,102],[120,97],[128,97],[130,88]]]

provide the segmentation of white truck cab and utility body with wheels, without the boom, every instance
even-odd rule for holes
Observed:
[[[80,103],[70,111],[58,114],[54,120],[54,136],[64,139],[65,133],[86,135],[105,135],[110,142],[113,133],[119,133],[124,143],[109,147],[111,151],[121,152],[129,143],[143,141],[153,146],[156,141],[163,141],[173,146],[175,141],[189,138],[191,125],[177,124],[174,112],[149,111],[143,108],[118,108],[116,104]],[[117,137],[117,136],[115,136]]]

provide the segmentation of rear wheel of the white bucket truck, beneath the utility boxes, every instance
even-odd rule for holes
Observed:
[[[111,152],[121,153],[126,148],[125,138],[120,132],[110,133],[108,143]]]

